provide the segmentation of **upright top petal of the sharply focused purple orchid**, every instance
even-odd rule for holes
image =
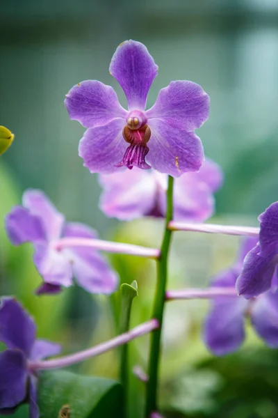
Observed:
[[[122,86],[129,110],[144,110],[149,88],[158,72],[145,45],[135,40],[122,42],[112,57],[109,70]]]

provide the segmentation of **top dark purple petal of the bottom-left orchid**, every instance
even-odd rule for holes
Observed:
[[[28,357],[35,341],[35,323],[13,297],[1,298],[0,341]],[[1,408],[1,407],[0,407]]]

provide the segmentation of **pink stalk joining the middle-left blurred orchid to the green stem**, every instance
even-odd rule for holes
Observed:
[[[140,256],[147,258],[158,258],[160,251],[155,248],[141,247],[140,245],[125,244],[123,242],[111,242],[105,240],[97,240],[94,238],[60,238],[52,242],[55,249],[63,249],[67,247],[88,247],[99,249],[117,254],[128,254],[130,256]]]

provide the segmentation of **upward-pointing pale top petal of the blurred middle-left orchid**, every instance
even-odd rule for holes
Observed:
[[[41,190],[26,190],[22,196],[22,203],[30,210],[31,215],[40,218],[47,240],[56,240],[60,237],[65,217],[58,212],[46,194]]]

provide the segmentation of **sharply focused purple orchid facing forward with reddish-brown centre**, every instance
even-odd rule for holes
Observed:
[[[128,111],[111,86],[96,80],[76,84],[65,99],[70,118],[88,128],[79,144],[85,167],[92,173],[153,167],[174,177],[199,170],[204,154],[194,131],[209,111],[202,87],[171,82],[145,111],[158,66],[145,45],[134,40],[117,47],[109,70],[126,94]]]

